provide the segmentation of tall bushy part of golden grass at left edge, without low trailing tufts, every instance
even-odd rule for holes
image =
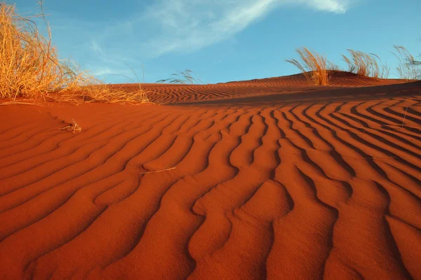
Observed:
[[[36,97],[77,83],[79,74],[58,59],[31,17],[6,3],[0,3],[0,41],[0,97]]]

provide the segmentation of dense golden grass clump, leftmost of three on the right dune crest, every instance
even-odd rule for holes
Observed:
[[[304,73],[305,78],[313,85],[328,85],[330,70],[336,67],[328,61],[326,56],[319,55],[308,48],[300,48],[296,51],[300,55],[302,62],[299,62],[297,59],[286,59],[286,62],[297,66]]]

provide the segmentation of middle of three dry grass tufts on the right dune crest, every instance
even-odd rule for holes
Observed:
[[[361,77],[387,78],[389,67],[387,64],[379,66],[380,57],[373,53],[361,52],[360,50],[348,50],[350,57],[342,55],[348,64],[348,71]],[[378,62],[377,62],[378,61]]]

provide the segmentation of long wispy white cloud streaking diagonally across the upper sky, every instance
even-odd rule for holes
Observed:
[[[359,0],[156,0],[140,12],[109,26],[91,25],[84,44],[91,64],[105,74],[123,71],[123,62],[174,52],[192,52],[229,38],[282,8],[295,6],[329,13],[345,13]],[[86,30],[86,29],[85,29]]]

